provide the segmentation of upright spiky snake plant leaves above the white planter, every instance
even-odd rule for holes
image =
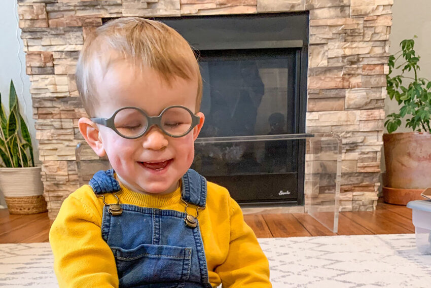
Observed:
[[[2,95],[0,95],[1,101]],[[11,80],[9,117],[0,107],[0,158],[2,167],[33,167],[33,147],[27,125],[19,113],[18,97]]]

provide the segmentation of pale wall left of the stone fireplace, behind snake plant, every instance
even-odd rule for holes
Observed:
[[[34,120],[32,119],[30,81],[25,74],[25,53],[23,52],[21,29],[17,31],[16,2],[16,0],[0,1],[0,93],[2,93],[2,103],[9,114],[9,85],[12,79],[18,94],[21,115],[24,119],[26,118],[32,136],[34,159],[40,163],[38,143],[35,140]],[[4,199],[0,193],[0,206],[2,204],[4,205]]]

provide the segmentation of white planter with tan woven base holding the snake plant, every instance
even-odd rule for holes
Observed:
[[[9,213],[34,214],[47,211],[41,167],[0,168],[0,188]]]

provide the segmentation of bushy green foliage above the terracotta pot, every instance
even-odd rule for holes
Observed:
[[[416,38],[416,35],[415,35]],[[389,57],[389,74],[386,76],[386,90],[389,98],[395,98],[401,105],[399,113],[387,116],[384,126],[389,133],[396,131],[401,125],[401,119],[406,119],[406,127],[413,131],[430,132],[429,120],[431,117],[431,82],[418,77],[420,56],[414,50],[414,40],[406,39],[400,43],[401,51]],[[399,64],[399,62],[402,62]],[[396,66],[397,65],[397,66]],[[391,76],[393,69],[401,68],[401,74]],[[414,78],[405,76],[406,71],[413,71]],[[403,84],[403,81],[407,82]]]

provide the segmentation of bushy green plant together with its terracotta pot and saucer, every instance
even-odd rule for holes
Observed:
[[[383,197],[392,204],[420,199],[420,193],[431,187],[431,82],[418,77],[420,57],[414,44],[413,39],[400,43],[401,51],[389,57],[386,76],[389,98],[400,106],[398,113],[387,116],[384,126],[388,133],[383,135],[387,183]],[[401,74],[392,75],[398,68],[402,68]],[[403,118],[413,131],[392,133]]]

